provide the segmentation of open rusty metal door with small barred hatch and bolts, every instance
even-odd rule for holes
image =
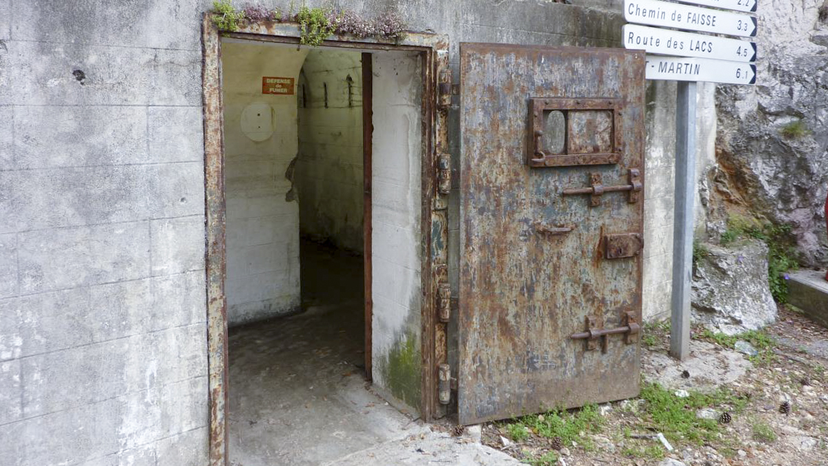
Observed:
[[[460,46],[461,424],[639,392],[643,51]]]

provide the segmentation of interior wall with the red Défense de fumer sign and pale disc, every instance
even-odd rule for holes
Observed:
[[[296,93],[262,94],[262,77],[296,83],[307,53],[267,44],[222,45],[231,325],[286,314],[301,302],[299,209],[286,178],[297,153]],[[251,108],[256,112],[249,113]]]

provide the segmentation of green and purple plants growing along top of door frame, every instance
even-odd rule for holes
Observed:
[[[214,0],[212,19],[219,31],[238,31],[242,21],[296,22],[300,42],[307,46],[320,46],[331,35],[373,37],[383,41],[401,41],[406,36],[407,25],[397,12],[388,11],[373,19],[360,17],[351,10],[333,7],[308,7],[304,2],[294,14],[293,2],[287,12],[267,9],[261,5],[248,5],[242,10],[233,7],[231,0]]]

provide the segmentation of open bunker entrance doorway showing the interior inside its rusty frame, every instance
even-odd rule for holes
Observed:
[[[421,56],[221,49],[229,464],[325,463],[419,401],[383,330],[421,313]]]

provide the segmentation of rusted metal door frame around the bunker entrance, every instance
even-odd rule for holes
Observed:
[[[299,45],[295,24],[251,22],[238,31],[219,32],[205,13],[202,20],[202,98],[205,132],[205,217],[207,358],[209,377],[209,464],[226,466],[228,459],[228,339],[224,197],[224,106],[222,103],[220,36],[249,41]],[[445,324],[436,317],[436,275],[445,273],[447,223],[445,196],[436,192],[436,154],[448,151],[446,110],[437,105],[437,76],[449,70],[445,36],[410,32],[395,44],[368,38],[336,36],[323,46],[355,50],[407,50],[419,52],[422,60],[422,186],[421,186],[421,417],[441,414],[437,400],[437,366],[445,362]],[[440,212],[438,213],[438,209]],[[440,228],[432,228],[437,219]],[[443,221],[440,221],[442,219]],[[436,233],[436,234],[435,234]],[[368,289],[366,289],[368,291]],[[366,302],[370,300],[366,296]],[[367,329],[368,330],[368,329]],[[436,338],[436,334],[442,337]],[[439,339],[440,341],[436,341]]]

